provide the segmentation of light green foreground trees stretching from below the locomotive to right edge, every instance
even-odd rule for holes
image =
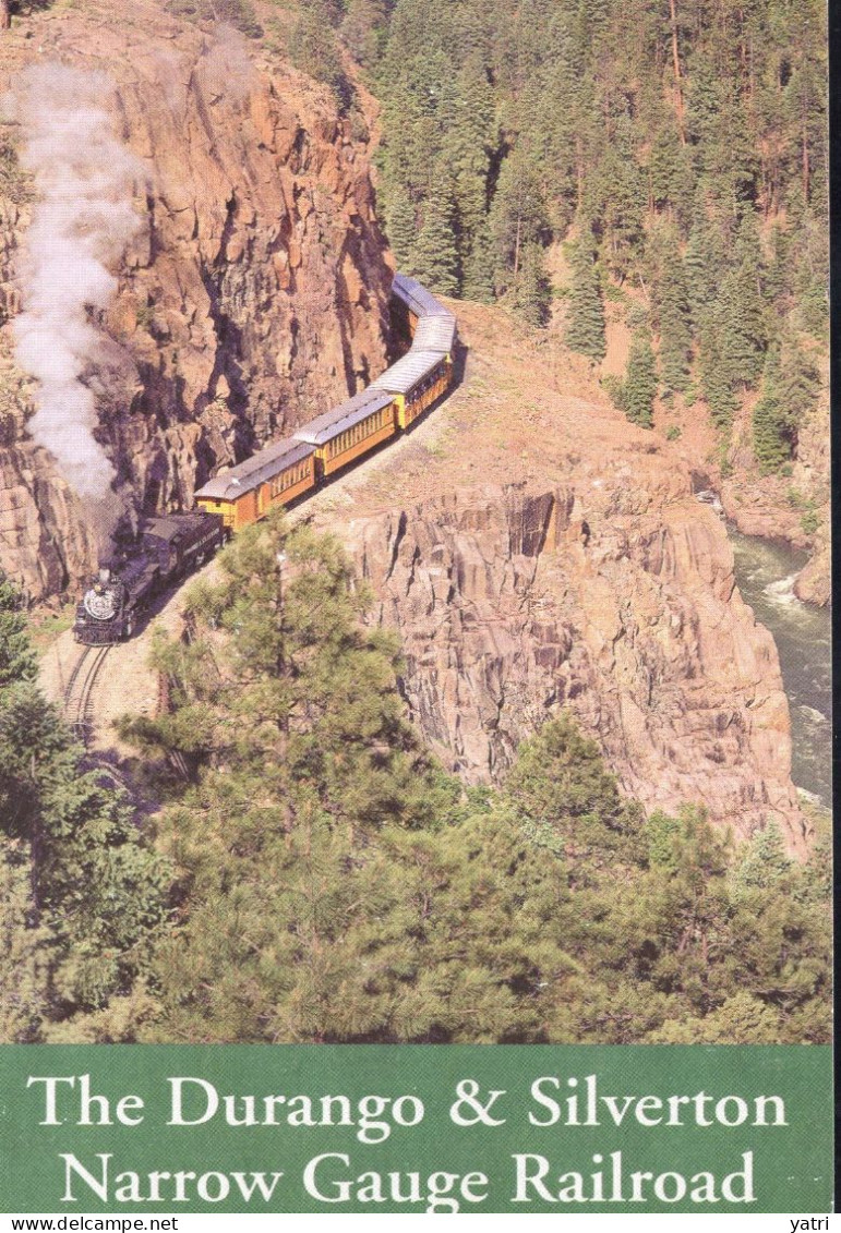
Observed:
[[[159,645],[170,713],[126,726],[189,771],[139,1038],[823,1038],[825,889],[776,832],[646,821],[568,716],[465,792],[333,540],[271,518],[221,561]]]

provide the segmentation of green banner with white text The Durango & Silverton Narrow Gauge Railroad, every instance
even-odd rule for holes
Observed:
[[[6,1212],[827,1212],[824,1047],[0,1051]]]

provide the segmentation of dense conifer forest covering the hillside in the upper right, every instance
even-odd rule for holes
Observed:
[[[786,0],[397,0],[376,14],[371,0],[370,17],[386,222],[408,272],[503,297],[539,327],[541,249],[573,240],[567,345],[599,360],[603,286],[642,290],[662,392],[686,391],[697,366],[725,433],[782,333],[825,339],[815,0],[797,12]],[[428,219],[444,217],[437,261]],[[757,441],[767,467],[790,456],[797,427],[766,404]]]

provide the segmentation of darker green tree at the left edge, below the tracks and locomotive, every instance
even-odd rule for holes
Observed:
[[[32,681],[17,598],[0,584],[0,878],[9,940],[4,1039],[126,995],[166,916],[168,873],[141,842],[125,795],[86,771]]]

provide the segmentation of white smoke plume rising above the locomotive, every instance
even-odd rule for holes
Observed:
[[[39,382],[28,428],[80,497],[105,503],[115,470],[94,438],[96,401],[84,381],[102,337],[90,309],[111,301],[110,270],[141,223],[132,208],[141,165],[115,136],[111,95],[101,73],[47,64],[22,73],[10,99],[38,191],[14,322],[17,363]]]

